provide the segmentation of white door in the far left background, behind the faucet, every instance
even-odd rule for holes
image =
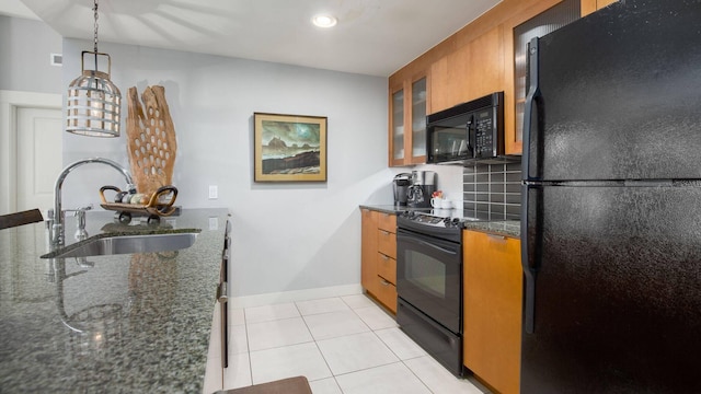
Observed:
[[[60,109],[16,107],[16,210],[54,206],[54,183],[62,167]]]

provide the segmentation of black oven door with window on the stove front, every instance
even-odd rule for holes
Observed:
[[[398,229],[398,296],[456,334],[461,333],[461,281],[460,243]]]

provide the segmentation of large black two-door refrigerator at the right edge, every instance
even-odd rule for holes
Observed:
[[[701,393],[701,0],[529,48],[521,394]]]

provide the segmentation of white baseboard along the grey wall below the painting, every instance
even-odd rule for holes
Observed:
[[[233,308],[249,308],[355,294],[363,294],[363,287],[360,286],[360,283],[233,297],[229,299],[229,302],[233,303]]]

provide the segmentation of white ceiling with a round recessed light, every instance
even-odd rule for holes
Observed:
[[[388,77],[501,0],[100,0],[100,42]],[[93,0],[1,0],[68,38],[93,37]],[[333,28],[313,14],[335,15]],[[91,48],[87,48],[91,49]]]

